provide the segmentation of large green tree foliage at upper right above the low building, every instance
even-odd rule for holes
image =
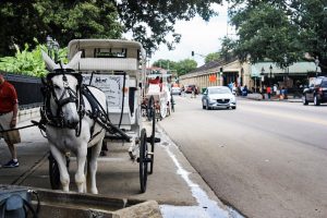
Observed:
[[[241,60],[268,58],[284,68],[308,53],[327,69],[327,3],[325,0],[231,0],[231,23],[239,39],[232,44]],[[287,57],[284,59],[284,57]]]

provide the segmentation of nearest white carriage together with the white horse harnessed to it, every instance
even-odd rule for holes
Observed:
[[[68,50],[68,64],[55,63],[43,53],[52,71],[45,82],[39,125],[50,144],[51,187],[62,186],[69,191],[68,152],[72,152],[77,161],[78,192],[96,194],[96,159],[101,147],[107,143],[109,146],[124,143],[129,144],[126,152],[131,159],[140,164],[141,192],[144,193],[147,174],[153,173],[154,145],[159,138],[155,137],[155,116],[149,136],[142,122],[146,80],[142,45],[131,40],[74,39]],[[155,114],[154,107],[148,109]]]

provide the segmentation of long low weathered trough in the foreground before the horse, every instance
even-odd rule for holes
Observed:
[[[38,217],[162,218],[159,204],[156,201],[142,202],[110,198],[100,194],[63,192],[20,185],[2,185],[2,187],[10,191],[5,192],[4,195],[14,194],[17,190],[29,190],[29,193],[34,193],[31,194],[32,205],[34,208],[39,205]]]

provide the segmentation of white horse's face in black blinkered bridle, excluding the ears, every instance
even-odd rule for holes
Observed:
[[[75,129],[80,122],[82,75],[56,72],[47,75],[49,107],[56,123]]]

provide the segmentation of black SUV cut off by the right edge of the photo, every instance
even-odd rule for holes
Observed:
[[[315,106],[327,102],[327,77],[318,76],[311,81],[308,87],[303,89],[303,105],[313,102]]]

